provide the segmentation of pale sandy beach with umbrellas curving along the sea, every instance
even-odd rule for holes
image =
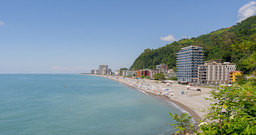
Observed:
[[[180,84],[167,86],[166,83],[161,83],[161,81],[157,80],[133,79],[108,75],[95,76],[116,80],[117,82],[127,86],[134,87],[147,95],[157,96],[163,100],[173,102],[173,104],[176,104],[177,106],[181,107],[182,110],[185,110],[187,113],[193,116],[195,123],[199,123],[198,119],[202,120],[203,116],[207,114],[206,112],[202,112],[200,110],[206,109],[206,107],[211,103],[210,101],[204,99],[205,97],[210,97],[210,88],[200,88],[201,91],[196,91],[195,89],[199,87],[192,86],[187,89],[186,86]],[[184,91],[183,95],[181,94],[182,90]]]

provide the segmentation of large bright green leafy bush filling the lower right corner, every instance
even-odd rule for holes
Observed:
[[[205,119],[212,120],[201,125],[203,134],[255,134],[256,133],[256,79],[237,82],[223,87],[219,92],[211,91],[214,102],[208,108]],[[240,84],[240,85],[238,85]]]

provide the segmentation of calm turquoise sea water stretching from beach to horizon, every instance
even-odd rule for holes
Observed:
[[[101,77],[0,74],[0,134],[170,134],[176,106]]]

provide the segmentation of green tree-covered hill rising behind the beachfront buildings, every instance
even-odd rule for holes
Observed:
[[[131,69],[155,69],[159,64],[167,64],[168,69],[176,69],[176,52],[182,47],[198,45],[203,47],[205,60],[221,59],[222,62],[235,63],[237,70],[249,73],[251,68],[247,67],[246,60],[253,52],[256,52],[255,40],[256,16],[251,16],[241,23],[200,35],[197,38],[181,39],[155,50],[148,48],[134,61]],[[243,43],[253,43],[253,45],[244,52],[233,49],[232,44]]]

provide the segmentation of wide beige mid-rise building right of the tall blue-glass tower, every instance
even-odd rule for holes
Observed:
[[[221,63],[221,60],[204,61],[204,65],[198,66],[198,82],[202,84],[228,83],[228,73],[234,70],[236,70],[236,64],[230,62]]]

